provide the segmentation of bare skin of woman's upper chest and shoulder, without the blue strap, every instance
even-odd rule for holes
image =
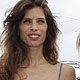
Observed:
[[[42,64],[38,67],[24,69],[24,72],[19,71],[24,77],[26,76],[25,74],[27,74],[24,80],[58,80],[60,64],[61,63],[57,63],[56,65]],[[16,76],[15,80],[20,80],[19,76]],[[74,68],[63,64],[60,80],[76,80]]]

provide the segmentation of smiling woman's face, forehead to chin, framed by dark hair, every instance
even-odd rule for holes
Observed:
[[[20,37],[29,47],[42,46],[46,38],[47,28],[42,8],[34,7],[25,12],[20,23]]]

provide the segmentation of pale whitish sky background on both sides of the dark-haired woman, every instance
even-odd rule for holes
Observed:
[[[3,30],[5,11],[19,0],[0,0],[0,34]],[[77,80],[80,80],[80,57],[76,49],[76,40],[80,32],[80,0],[47,0],[61,30],[58,39],[59,61],[68,63],[76,70]],[[0,52],[1,56],[1,52]]]

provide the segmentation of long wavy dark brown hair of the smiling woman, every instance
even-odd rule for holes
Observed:
[[[25,11],[33,7],[41,7],[44,11],[48,30],[43,43],[43,56],[50,64],[55,65],[58,61],[57,36],[60,30],[57,27],[55,17],[47,6],[46,0],[20,0],[3,22],[2,32],[3,54],[0,58],[0,80],[14,80],[19,67],[26,60],[29,65],[28,46],[21,40],[19,35],[19,24],[25,15]]]

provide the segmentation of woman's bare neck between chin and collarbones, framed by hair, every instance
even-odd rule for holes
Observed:
[[[31,47],[29,52],[30,66],[36,67],[47,62],[43,57],[43,47]]]

